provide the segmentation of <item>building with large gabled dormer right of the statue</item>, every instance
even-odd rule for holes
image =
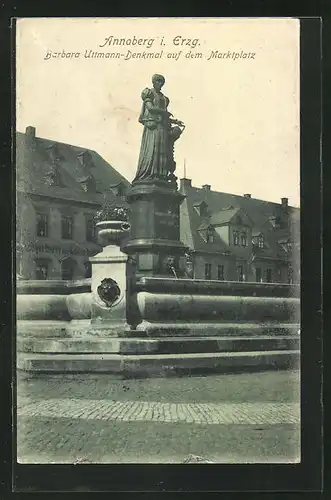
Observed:
[[[300,211],[181,179],[181,240],[198,279],[298,283]]]

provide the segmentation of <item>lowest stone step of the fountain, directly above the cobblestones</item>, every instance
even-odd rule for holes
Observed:
[[[245,370],[296,369],[298,350],[190,354],[26,354],[17,356],[18,370],[42,373],[112,373],[120,377],[158,377]]]

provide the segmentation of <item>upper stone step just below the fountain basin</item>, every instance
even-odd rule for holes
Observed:
[[[196,338],[19,338],[18,352],[26,353],[116,353],[116,354],[189,354],[215,352],[272,351],[299,349],[300,337],[196,337]]]

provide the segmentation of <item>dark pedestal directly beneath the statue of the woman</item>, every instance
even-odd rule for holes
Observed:
[[[136,262],[136,277],[181,277],[186,247],[180,241],[179,210],[185,196],[174,184],[135,182],[127,195],[131,230],[124,251]]]

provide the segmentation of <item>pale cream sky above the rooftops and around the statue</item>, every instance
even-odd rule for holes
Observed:
[[[186,126],[179,178],[185,164],[193,186],[299,206],[299,30],[289,18],[19,19],[17,130],[93,149],[131,181],[141,92],[161,73]]]

